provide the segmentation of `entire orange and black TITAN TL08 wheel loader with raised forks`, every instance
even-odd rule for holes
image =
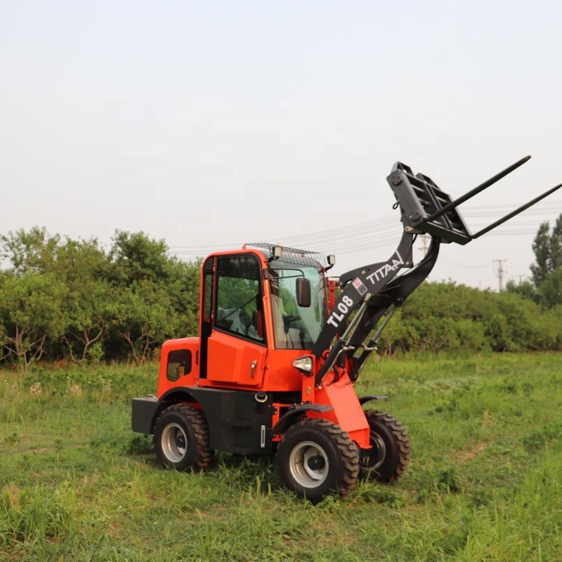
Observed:
[[[386,396],[357,396],[354,382],[396,309],[431,272],[440,244],[466,244],[540,201],[551,188],[471,234],[457,207],[525,157],[453,200],[397,162],[387,181],[403,234],[386,261],[330,282],[334,256],[246,244],[202,262],[198,337],[162,346],[157,394],[133,398],[132,428],[154,436],[159,462],[202,471],[214,452],[275,453],[280,483],[319,502],[358,478],[396,481],[410,461],[403,425]],[[431,237],[414,266],[417,235]],[[401,275],[398,275],[401,273]]]

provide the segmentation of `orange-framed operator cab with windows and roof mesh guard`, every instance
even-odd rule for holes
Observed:
[[[273,244],[209,256],[202,268],[200,379],[258,386],[268,352],[310,350],[326,322],[325,272],[333,264],[332,256],[326,261]]]

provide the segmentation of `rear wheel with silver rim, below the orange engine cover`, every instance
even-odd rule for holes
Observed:
[[[162,466],[178,471],[207,469],[214,451],[203,412],[188,404],[167,407],[156,420],[154,448]]]

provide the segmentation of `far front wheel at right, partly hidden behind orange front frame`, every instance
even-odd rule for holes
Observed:
[[[391,414],[370,410],[365,412],[371,428],[372,449],[359,463],[360,478],[378,482],[396,481],[410,463],[410,438]]]

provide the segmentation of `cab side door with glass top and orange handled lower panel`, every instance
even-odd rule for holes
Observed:
[[[267,346],[258,258],[216,256],[215,296],[207,379],[228,386],[261,386]]]

